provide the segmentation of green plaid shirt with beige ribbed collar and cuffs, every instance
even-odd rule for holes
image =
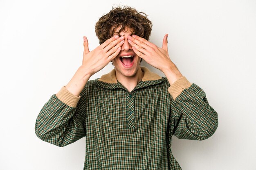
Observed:
[[[167,78],[141,69],[144,77],[132,92],[115,69],[88,81],[79,97],[62,87],[41,109],[36,135],[61,147],[86,137],[84,170],[181,170],[172,135],[207,139],[217,129],[217,113],[185,77],[170,87]]]

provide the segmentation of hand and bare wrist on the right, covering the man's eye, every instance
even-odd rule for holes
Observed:
[[[182,77],[182,74],[169,57],[167,37],[168,34],[164,36],[162,48],[137,35],[128,36],[127,38],[132,50],[148,64],[161,70],[169,83],[173,84],[178,78]]]

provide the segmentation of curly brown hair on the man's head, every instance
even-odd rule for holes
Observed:
[[[120,30],[117,32],[119,27]],[[112,10],[103,15],[95,25],[99,44],[102,44],[114,34],[120,36],[121,31],[132,31],[132,34],[148,40],[151,30],[152,22],[148,20],[147,15],[128,6],[112,7]]]

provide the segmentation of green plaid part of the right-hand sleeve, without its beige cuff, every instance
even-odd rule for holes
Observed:
[[[198,85],[183,89],[171,101],[171,126],[172,135],[180,139],[204,140],[216,131],[218,114]]]

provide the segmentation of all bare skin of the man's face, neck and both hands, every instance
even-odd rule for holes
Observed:
[[[87,38],[83,37],[82,65],[65,88],[75,96],[79,96],[89,78],[112,61],[116,69],[117,80],[131,92],[144,75],[140,68],[141,58],[161,70],[170,85],[182,77],[168,55],[168,34],[164,36],[162,48],[137,35],[130,36],[131,34],[131,31],[121,32],[121,37],[115,35],[92,51],[89,51]],[[132,67],[126,68],[122,65],[119,58],[124,55],[134,56]]]

